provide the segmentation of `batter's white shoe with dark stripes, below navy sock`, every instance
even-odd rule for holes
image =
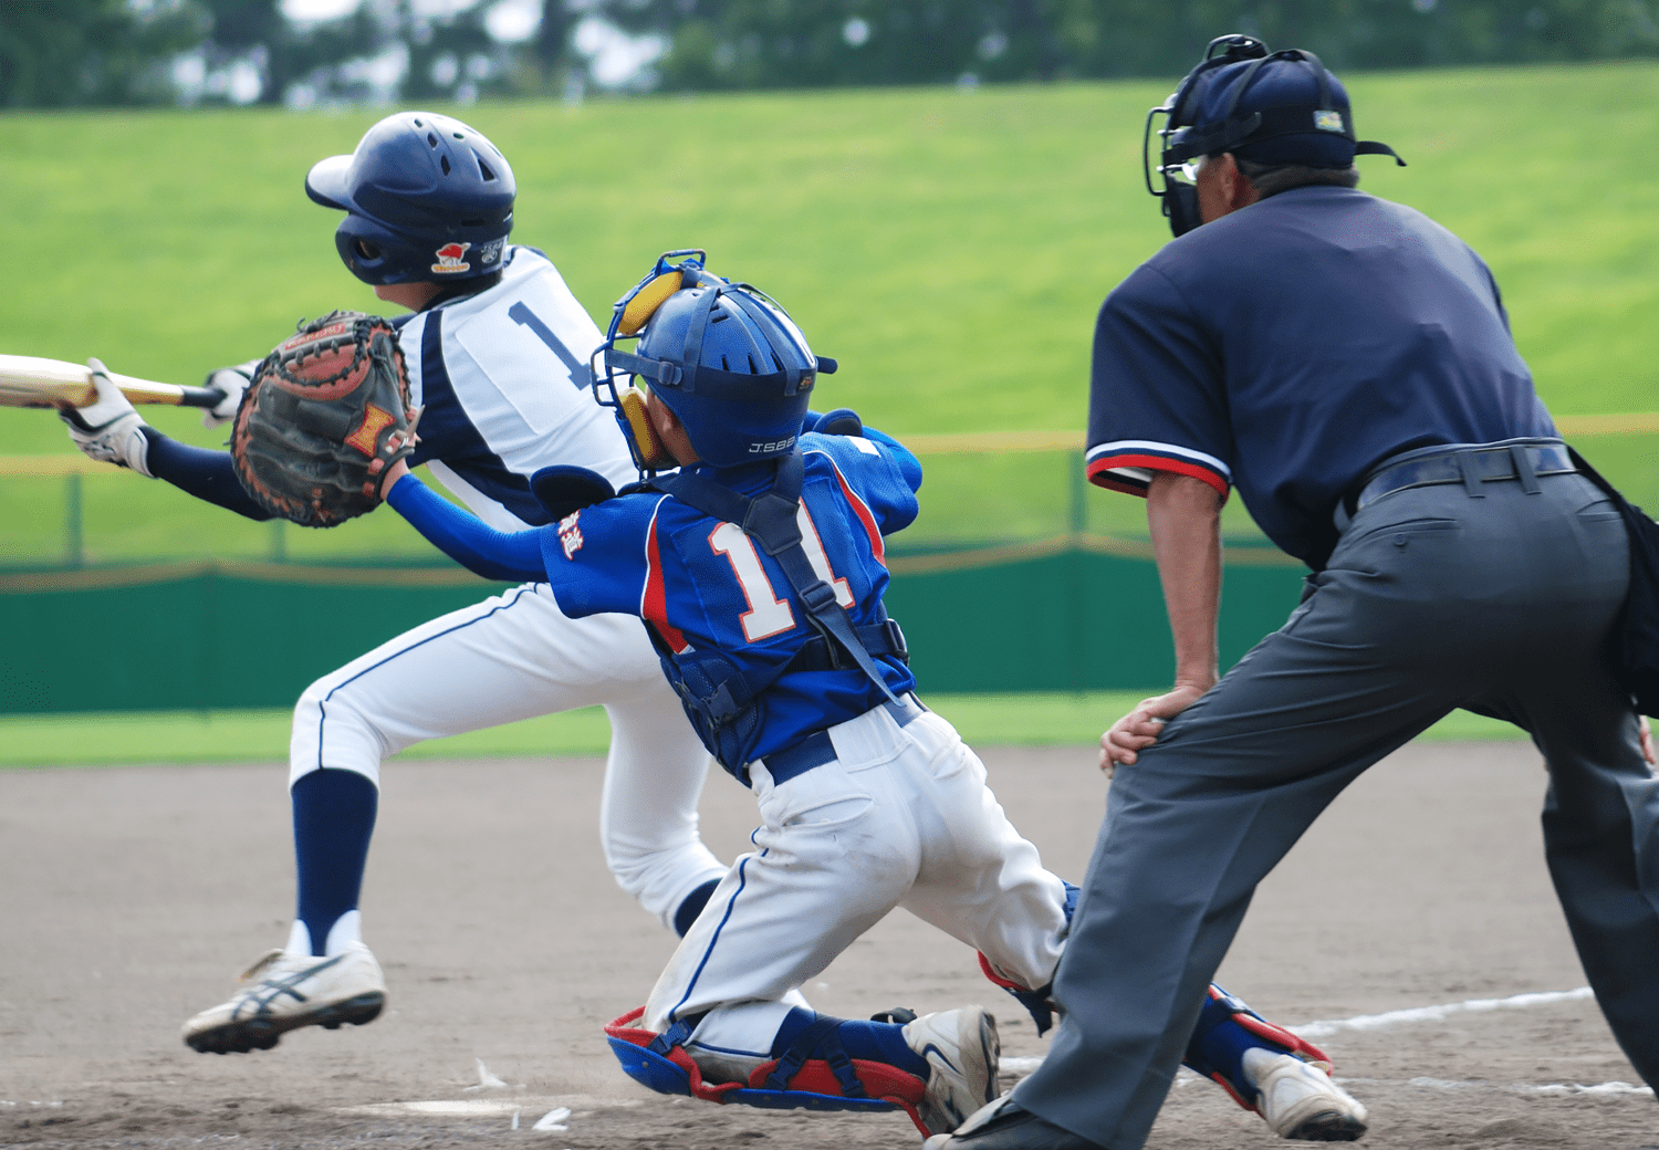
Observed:
[[[317,958],[270,951],[242,971],[246,984],[229,1002],[184,1024],[184,1042],[202,1054],[269,1050],[287,1031],[372,1022],[387,1004],[380,962],[362,943]]]

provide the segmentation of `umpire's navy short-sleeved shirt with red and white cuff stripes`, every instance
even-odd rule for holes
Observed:
[[[1554,433],[1480,256],[1349,188],[1292,188],[1171,241],[1095,325],[1088,478],[1236,486],[1314,571],[1377,463]]]

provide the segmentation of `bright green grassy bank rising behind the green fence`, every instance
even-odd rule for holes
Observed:
[[[1173,78],[1171,78],[1173,80]],[[1558,415],[1659,408],[1659,66],[1350,76],[1365,188],[1448,224],[1505,287]],[[826,400],[899,435],[1083,426],[1105,292],[1166,239],[1141,189],[1146,106],[1168,83],[652,98],[463,110],[513,158],[521,242],[546,249],[596,320],[664,249],[778,295],[838,357]],[[262,353],[302,315],[373,309],[310,204],[315,159],[380,113],[5,115],[0,246],[30,254],[0,350],[196,382]],[[1606,141],[1618,141],[1609,158]],[[1636,159],[1629,159],[1629,158]],[[1264,267],[1271,282],[1276,269]],[[189,412],[153,422],[212,445]],[[1659,503],[1647,436],[1584,443]],[[66,455],[43,412],[0,412],[0,455]],[[1062,453],[934,456],[909,544],[1034,538],[1070,523]],[[0,478],[0,566],[65,554],[68,483]],[[426,556],[390,514],[332,533],[234,521],[124,473],[85,476],[88,561],[179,554]],[[1236,501],[1234,501],[1236,504]],[[1087,526],[1138,533],[1136,501],[1088,493]],[[1229,531],[1251,533],[1234,506]]]

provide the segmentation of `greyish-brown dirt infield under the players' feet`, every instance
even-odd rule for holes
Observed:
[[[1080,875],[1105,795],[1092,753],[984,758],[1015,825]],[[0,772],[0,1147],[916,1147],[902,1115],[715,1107],[620,1074],[599,1027],[644,999],[672,938],[606,873],[599,778],[577,758],[390,763],[363,896],[387,1014],[219,1057],[178,1027],[285,938],[285,768]],[[1360,1145],[1659,1150],[1652,1095],[1608,1085],[1636,1079],[1591,1001],[1342,1022],[1583,986],[1543,868],[1543,787],[1525,743],[1408,747],[1262,886],[1221,982],[1276,1021],[1335,1022],[1317,1040],[1372,1110]],[[735,855],[753,821],[748,792],[712,778],[715,850]],[[904,914],[806,992],[848,1016],[980,1001],[1005,1062],[1045,1047],[966,948]],[[534,1128],[559,1107],[562,1128]],[[1151,1145],[1279,1143],[1185,1080]]]

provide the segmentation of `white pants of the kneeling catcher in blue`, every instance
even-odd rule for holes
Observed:
[[[1044,870],[932,712],[884,707],[830,728],[838,758],[773,785],[750,767],[761,826],[657,979],[642,1026],[707,1012],[687,1050],[740,1077],[765,1060],[795,994],[902,906],[1032,987],[1060,959],[1065,883]],[[964,956],[966,958],[966,956]]]

